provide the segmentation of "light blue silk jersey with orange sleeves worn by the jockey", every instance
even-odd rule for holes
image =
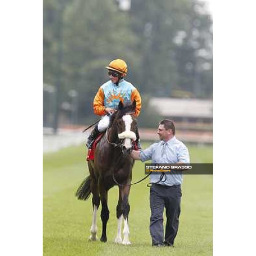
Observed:
[[[106,114],[105,108],[117,108],[120,101],[124,104],[131,104],[134,99],[136,101],[135,116],[139,116],[141,97],[138,90],[124,79],[119,82],[118,86],[110,80],[99,87],[94,97],[93,110],[96,115],[103,116]]]

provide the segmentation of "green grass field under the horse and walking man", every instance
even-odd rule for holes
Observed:
[[[143,144],[145,148],[147,144]],[[212,146],[188,146],[191,163],[212,163]],[[149,234],[148,180],[131,187],[129,229],[131,245],[115,244],[118,188],[108,193],[110,218],[107,243],[90,242],[91,197],[79,201],[76,189],[88,175],[84,146],[65,148],[43,156],[43,252],[44,256],[175,256],[212,255],[212,175],[185,175],[182,185],[180,226],[175,247],[152,247]],[[133,181],[144,176],[144,164],[136,161]],[[100,207],[101,209],[101,207]],[[101,236],[100,211],[98,237]]]

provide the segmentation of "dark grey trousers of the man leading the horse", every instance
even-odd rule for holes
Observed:
[[[152,244],[173,245],[177,235],[180,216],[180,185],[154,184],[150,188],[150,234]],[[163,241],[163,210],[166,207],[166,230]]]

